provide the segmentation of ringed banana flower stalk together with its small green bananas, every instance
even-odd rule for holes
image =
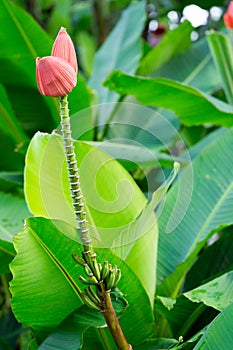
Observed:
[[[75,218],[83,245],[82,257],[73,254],[74,260],[83,266],[85,277],[79,275],[79,280],[87,287],[81,293],[83,303],[89,308],[103,313],[112,337],[121,350],[132,349],[122,332],[117,316],[112,306],[110,291],[121,278],[121,270],[117,265],[112,266],[108,261],[97,262],[92,247],[88,229],[83,195],[80,187],[79,169],[71,135],[70,117],[67,96],[60,99],[60,116],[62,140],[65,149],[68,177]]]

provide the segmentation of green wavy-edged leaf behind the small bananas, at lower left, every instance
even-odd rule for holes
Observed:
[[[39,330],[42,326],[54,327],[81,306],[77,276],[83,269],[71,256],[82,252],[81,244],[74,240],[76,236],[76,230],[64,222],[44,218],[28,219],[27,226],[16,236],[11,292],[12,307],[21,322]],[[152,308],[144,287],[119,257],[107,249],[96,249],[96,252],[99,261],[111,261],[121,269],[118,287],[127,295],[129,306],[120,323],[130,341],[135,344],[143,341],[154,330]],[[99,317],[97,313],[98,324]],[[77,320],[81,322],[81,315]]]

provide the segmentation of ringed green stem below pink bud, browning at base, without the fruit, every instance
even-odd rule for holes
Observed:
[[[68,177],[70,183],[70,191],[72,197],[72,204],[74,207],[75,218],[78,224],[78,229],[81,235],[81,241],[83,244],[83,256],[87,265],[92,270],[96,277],[96,289],[99,292],[99,296],[102,301],[101,312],[105,318],[105,321],[109,327],[112,337],[120,350],[132,349],[125,339],[121,326],[116,317],[110,291],[105,290],[104,282],[100,278],[100,271],[98,263],[96,261],[96,254],[92,248],[92,240],[89,234],[88,222],[86,219],[86,212],[84,209],[84,201],[80,188],[79,170],[77,165],[77,159],[74,151],[74,140],[71,135],[70,117],[68,109],[67,96],[63,96],[60,99],[60,116],[61,116],[61,131],[62,140],[64,144]]]

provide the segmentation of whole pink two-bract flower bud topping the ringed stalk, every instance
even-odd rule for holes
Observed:
[[[74,45],[62,27],[53,44],[51,56],[36,59],[36,80],[40,93],[52,97],[67,95],[77,84],[77,72]]]

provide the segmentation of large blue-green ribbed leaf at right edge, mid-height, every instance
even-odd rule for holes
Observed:
[[[181,201],[175,205],[179,191],[177,185],[167,196],[159,218],[158,249],[159,282],[172,274],[162,287],[163,293],[167,295],[176,295],[184,275],[212,233],[233,223],[230,209],[233,205],[232,152],[233,131],[229,130],[193,161],[194,183],[189,207],[184,201],[183,204]],[[184,188],[190,187],[189,168],[186,168],[181,178]],[[175,213],[183,213],[183,220],[178,225]],[[165,258],[167,256],[169,260]]]

